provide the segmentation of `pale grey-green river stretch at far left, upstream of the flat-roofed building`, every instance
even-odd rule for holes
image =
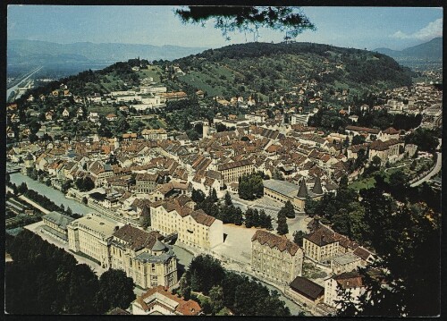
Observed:
[[[78,213],[80,215],[85,215],[94,212],[90,207],[86,207],[80,202],[74,199],[67,199],[65,195],[59,190],[55,190],[52,187],[46,186],[41,182],[34,181],[30,177],[23,175],[22,173],[12,173],[10,175],[11,182],[19,186],[22,182],[26,182],[30,190],[36,190],[39,194],[46,196],[48,199],[52,200],[56,205],[63,205],[65,209],[70,207],[73,213]]]

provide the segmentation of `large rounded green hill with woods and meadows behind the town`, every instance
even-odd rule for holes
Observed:
[[[313,43],[223,46],[173,63],[186,73],[176,80],[210,96],[274,96],[308,81],[315,89],[359,92],[411,84],[410,70],[387,55]]]

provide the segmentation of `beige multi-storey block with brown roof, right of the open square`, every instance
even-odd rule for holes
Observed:
[[[285,236],[257,230],[251,238],[251,269],[276,283],[291,283],[300,276],[303,250]]]

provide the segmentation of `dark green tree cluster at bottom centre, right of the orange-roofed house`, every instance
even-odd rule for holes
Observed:
[[[185,298],[190,297],[190,291],[209,296],[209,306],[204,309],[210,314],[226,307],[237,316],[291,315],[277,291],[269,291],[248,276],[225,270],[219,260],[209,255],[192,259],[188,271],[181,276],[179,291]]]

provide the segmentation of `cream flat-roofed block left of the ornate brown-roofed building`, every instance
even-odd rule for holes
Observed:
[[[100,266],[108,269],[110,239],[122,225],[100,214],[78,218],[67,225],[69,249],[87,254],[96,259]]]

